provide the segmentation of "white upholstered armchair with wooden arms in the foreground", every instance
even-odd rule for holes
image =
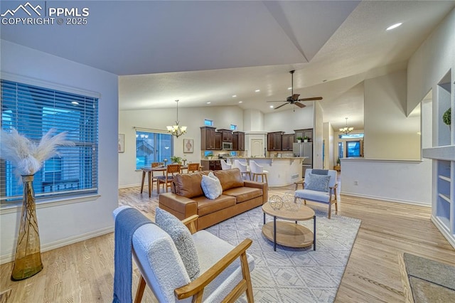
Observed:
[[[115,209],[114,218],[124,208],[129,206]],[[247,302],[254,302],[250,269],[255,261],[246,253],[252,240],[233,246],[208,231],[196,232],[197,218],[182,221],[191,231],[198,252],[200,275],[193,281],[168,233],[150,223],[134,231],[132,255],[141,273],[134,302],[141,302],[146,285],[158,302],[235,302],[245,292]]]

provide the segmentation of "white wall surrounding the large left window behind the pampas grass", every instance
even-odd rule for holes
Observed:
[[[1,73],[100,93],[99,196],[65,205],[38,203],[36,213],[43,251],[111,232],[118,206],[117,75],[8,41],[1,41]],[[14,259],[20,210],[0,210],[1,262]]]

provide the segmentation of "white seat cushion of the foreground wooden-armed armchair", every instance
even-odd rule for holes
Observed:
[[[200,230],[193,234],[196,250],[198,250],[200,272],[203,273],[212,265],[218,262],[222,257],[235,248],[225,240],[205,230]],[[255,260],[247,254],[250,271],[255,267]],[[237,258],[226,268],[218,277],[205,287],[203,302],[222,302],[226,295],[242,280],[242,267],[240,260]]]

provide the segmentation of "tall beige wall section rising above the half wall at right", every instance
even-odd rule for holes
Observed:
[[[420,117],[405,115],[406,80],[405,70],[365,80],[365,158],[420,159]]]

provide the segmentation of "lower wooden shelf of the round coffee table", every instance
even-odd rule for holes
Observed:
[[[277,221],[277,239],[276,243],[279,245],[288,246],[291,248],[305,248],[314,242],[314,234],[305,226],[291,223]],[[273,222],[266,223],[262,226],[262,233],[265,238],[274,242],[273,236]]]

